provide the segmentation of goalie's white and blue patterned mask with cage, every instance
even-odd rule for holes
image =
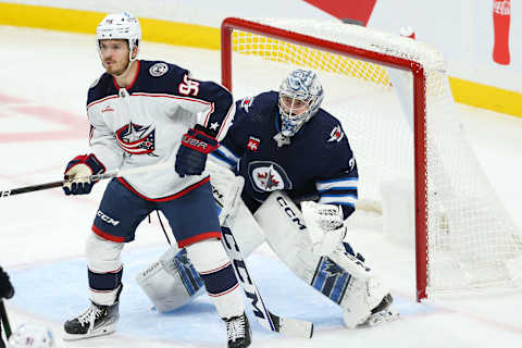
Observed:
[[[323,87],[318,75],[310,70],[295,70],[279,86],[281,133],[295,135],[321,107]]]

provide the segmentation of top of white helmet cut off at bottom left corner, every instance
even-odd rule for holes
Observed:
[[[41,325],[22,324],[9,337],[8,348],[54,348],[52,332]]]

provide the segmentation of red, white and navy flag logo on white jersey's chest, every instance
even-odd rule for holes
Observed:
[[[117,145],[130,154],[149,154],[156,149],[156,129],[152,126],[141,126],[129,123],[116,130]]]

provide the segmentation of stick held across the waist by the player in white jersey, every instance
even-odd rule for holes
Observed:
[[[174,171],[174,163],[171,162],[163,162],[163,163],[158,163],[158,164],[151,164],[151,165],[144,165],[144,166],[138,166],[138,167],[133,167],[128,170],[114,170],[110,171],[103,174],[95,174],[88,176],[88,178],[92,182],[98,182],[107,178],[113,178],[117,176],[123,176],[123,175],[128,175],[128,174],[137,174],[137,173],[144,173],[144,172],[149,172],[149,171],[157,171],[161,169],[166,169],[166,167],[172,167]],[[46,184],[39,184],[39,185],[33,185],[33,186],[24,186],[24,187],[17,187],[17,188],[12,188],[12,189],[7,189],[7,190],[0,190],[0,198],[5,198],[14,195],[20,195],[20,194],[27,194],[27,192],[34,192],[34,191],[39,191],[42,189],[49,189],[49,188],[54,188],[54,187],[62,187],[63,184],[65,184],[67,181],[60,181],[60,182],[52,182],[52,183],[46,183]]]

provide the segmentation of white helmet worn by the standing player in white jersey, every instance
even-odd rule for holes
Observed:
[[[138,18],[128,12],[108,14],[96,28],[96,41],[98,51],[100,40],[124,39],[128,42],[128,60],[135,61],[138,58],[139,42],[141,41],[141,26]],[[134,49],[137,49],[133,58]],[[129,64],[130,65],[130,64]]]

